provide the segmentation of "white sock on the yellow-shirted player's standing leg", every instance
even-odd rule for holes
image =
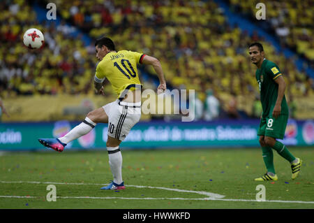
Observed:
[[[109,165],[111,168],[111,173],[114,177],[114,182],[118,185],[123,182],[122,180],[122,154],[117,147],[107,147],[108,157],[109,157]]]

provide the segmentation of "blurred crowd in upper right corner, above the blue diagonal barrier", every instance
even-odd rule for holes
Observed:
[[[248,17],[255,18],[255,8],[260,0],[229,0],[231,8]],[[281,45],[302,55],[314,66],[314,4],[312,0],[266,1],[265,27],[278,37]]]

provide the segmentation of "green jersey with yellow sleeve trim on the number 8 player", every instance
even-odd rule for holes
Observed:
[[[260,101],[262,102],[262,117],[272,116],[274,106],[278,96],[278,84],[275,82],[276,78],[282,75],[278,66],[267,59],[264,59],[260,69],[256,70],[256,80],[260,87]],[[281,115],[288,115],[289,110],[285,95],[281,102]]]

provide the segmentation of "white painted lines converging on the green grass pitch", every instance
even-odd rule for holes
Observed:
[[[38,182],[38,181],[0,181],[0,183],[33,183],[33,184],[48,184],[48,185],[105,185],[97,183],[81,183],[81,182]],[[138,185],[126,185],[126,187],[137,187],[137,188],[150,188],[150,189],[165,189],[175,192],[195,193],[202,194],[207,197],[200,199],[187,199],[187,198],[151,198],[151,197],[114,197],[114,196],[57,196],[57,199],[124,199],[124,200],[198,200],[198,201],[244,201],[244,202],[274,202],[274,203],[313,203],[314,201],[280,201],[280,200],[266,200],[257,201],[250,199],[223,199],[223,195],[214,194],[210,192],[195,192],[184,189],[174,189],[167,187],[151,187],[151,186],[138,186]],[[43,196],[0,196],[0,198],[17,198],[17,199],[42,199]]]

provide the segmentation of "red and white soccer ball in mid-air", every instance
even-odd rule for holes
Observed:
[[[35,28],[28,29],[23,36],[23,43],[29,49],[41,48],[44,44],[43,33]]]

